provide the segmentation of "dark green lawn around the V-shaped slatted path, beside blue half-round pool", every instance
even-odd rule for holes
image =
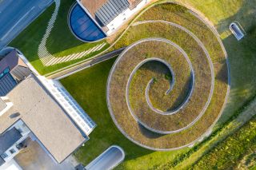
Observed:
[[[54,55],[54,57],[63,57],[72,53],[86,51],[95,45],[106,42],[106,40],[102,40],[101,42],[96,43],[85,43],[74,37],[74,35],[70,32],[67,24],[68,12],[70,10],[70,6],[73,3],[73,0],[61,1],[57,20],[54,23],[54,28],[50,33],[50,37],[47,39],[46,48],[51,54]],[[55,5],[53,4],[48,9],[46,9],[46,11],[41,14],[34,22],[32,22],[30,26],[26,28],[26,30],[23,30],[17,38],[10,42],[10,46],[14,46],[15,48],[20,49],[26,58],[30,61],[30,63],[34,66],[34,68],[37,69],[38,72],[42,75],[68,67],[70,65],[74,65],[75,63],[85,60],[89,57],[93,57],[109,46],[106,45],[101,50],[90,53],[89,55],[74,61],[68,61],[47,67],[42,65],[42,61],[40,61],[38,57],[38,45],[40,44],[42,37],[46,32],[46,26],[54,12],[54,6]]]

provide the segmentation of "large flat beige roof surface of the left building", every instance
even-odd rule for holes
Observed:
[[[33,74],[7,97],[14,106],[0,117],[0,133],[21,119],[59,163],[87,140]]]

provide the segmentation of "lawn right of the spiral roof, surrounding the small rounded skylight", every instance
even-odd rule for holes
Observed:
[[[199,11],[218,30],[230,62],[230,97],[218,125],[227,121],[234,112],[256,93],[256,6],[255,0],[202,1],[178,0]],[[229,30],[231,22],[238,21],[246,37],[238,42]],[[218,127],[218,126],[216,126]]]

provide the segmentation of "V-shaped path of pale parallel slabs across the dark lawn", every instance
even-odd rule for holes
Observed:
[[[90,53],[94,53],[98,50],[101,50],[106,45],[106,42],[103,42],[102,44],[96,45],[91,49],[87,49],[80,53],[72,53],[70,55],[66,55],[63,57],[54,57],[54,55],[49,53],[49,51],[46,48],[46,42],[47,42],[47,38],[49,38],[49,36],[50,36],[51,30],[54,27],[54,23],[58,16],[58,10],[59,10],[59,6],[61,3],[60,0],[54,0],[54,2],[55,2],[54,13],[51,16],[50,21],[48,22],[48,26],[46,28],[46,33],[44,34],[42,41],[41,41],[40,45],[38,46],[38,57],[42,61],[43,65],[50,66],[50,65],[56,65],[59,63],[67,62],[67,61],[76,60],[76,59],[79,59],[86,55],[89,55]]]

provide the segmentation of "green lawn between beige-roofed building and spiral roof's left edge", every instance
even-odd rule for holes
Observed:
[[[114,59],[111,59],[61,80],[97,124],[90,140],[74,154],[78,160],[86,165],[110,145],[118,144],[126,152],[126,160],[118,168],[145,169],[165,164],[186,151],[188,148],[178,152],[152,152],[130,142],[116,128],[106,106],[106,81],[113,63]]]

